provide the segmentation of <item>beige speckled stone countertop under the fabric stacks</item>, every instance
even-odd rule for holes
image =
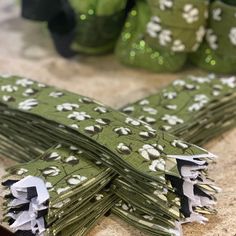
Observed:
[[[0,0],[0,73],[11,73],[94,97],[119,108],[155,92],[170,81],[189,73],[153,74],[120,65],[111,56],[77,57],[64,60],[54,51],[46,25],[20,18],[13,0]],[[206,225],[184,226],[186,236],[236,235],[236,129],[218,137],[207,145],[219,156],[210,174],[223,192],[218,196],[216,216]],[[0,157],[0,176],[12,161]],[[3,193],[0,192],[0,202]],[[89,236],[144,236],[145,234],[111,215],[104,217]]]

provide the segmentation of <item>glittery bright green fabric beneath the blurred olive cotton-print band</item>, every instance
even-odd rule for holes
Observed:
[[[174,52],[158,44],[149,44],[147,24],[151,10],[146,1],[139,0],[129,13],[120,39],[116,45],[116,56],[124,64],[154,72],[175,72],[180,70],[186,54]]]

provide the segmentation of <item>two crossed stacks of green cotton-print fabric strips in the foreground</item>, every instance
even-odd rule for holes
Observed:
[[[3,180],[5,220],[29,235],[84,235],[110,209],[150,235],[207,221],[219,190],[207,174],[215,156],[195,144],[235,125],[235,87],[235,77],[189,76],[122,108],[127,116],[2,76],[0,151],[27,162]]]

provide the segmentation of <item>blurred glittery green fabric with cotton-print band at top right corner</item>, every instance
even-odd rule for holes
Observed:
[[[236,71],[236,7],[215,1],[210,7],[206,39],[200,49],[190,56],[197,66],[217,72]]]

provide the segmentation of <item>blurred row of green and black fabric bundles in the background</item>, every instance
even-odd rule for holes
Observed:
[[[58,52],[115,52],[120,62],[175,72],[188,62],[236,72],[234,0],[22,0],[22,15],[48,22]]]

